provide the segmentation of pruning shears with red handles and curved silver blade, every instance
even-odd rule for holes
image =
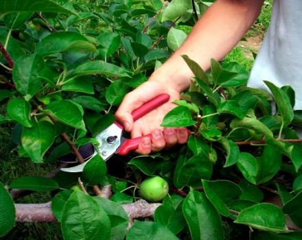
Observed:
[[[133,121],[140,119],[148,112],[165,104],[167,101],[169,101],[169,99],[170,95],[163,93],[146,102],[132,112]],[[122,136],[123,132],[124,126],[121,125],[119,121],[114,121],[113,124],[97,134],[97,136],[95,137],[99,145],[93,146],[91,143],[87,143],[80,148],[80,154],[86,160],[85,163],[82,163],[75,167],[61,168],[61,170],[73,173],[83,171],[86,163],[88,163],[89,160],[91,160],[91,158],[93,158],[93,156],[96,156],[97,154],[100,154],[100,156],[105,161],[111,158],[113,154],[124,156],[128,154],[128,152],[136,150],[141,139],[143,139],[144,137],[151,138],[151,134],[147,134],[145,136],[139,136],[135,139],[126,139],[124,138],[124,136]]]

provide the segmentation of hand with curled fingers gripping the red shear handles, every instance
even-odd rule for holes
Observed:
[[[131,112],[162,93],[170,95],[170,100],[133,122]],[[172,101],[179,98],[180,93],[176,89],[156,81],[145,82],[124,97],[115,113],[117,121],[124,125],[126,131],[131,132],[132,138],[152,134],[151,139],[146,137],[140,141],[137,152],[149,154],[151,151],[157,152],[164,147],[172,147],[176,143],[187,142],[186,128],[163,128],[160,126],[163,117],[176,106],[172,104]]]

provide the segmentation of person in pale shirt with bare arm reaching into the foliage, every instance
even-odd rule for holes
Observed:
[[[149,154],[187,141],[185,128],[160,127],[163,117],[175,107],[172,101],[179,99],[194,76],[181,56],[187,55],[202,69],[209,69],[211,58],[221,60],[242,39],[259,16],[263,4],[264,0],[217,0],[197,21],[183,45],[147,82],[124,97],[116,112],[117,120],[132,137],[152,133],[151,139],[145,137],[140,141],[137,152]],[[274,1],[270,27],[251,71],[249,86],[265,88],[263,80],[269,80],[277,86],[290,85],[299,89],[301,9],[301,0]],[[133,123],[130,113],[161,93],[170,94],[170,101]],[[295,107],[302,107],[302,95],[297,95]]]

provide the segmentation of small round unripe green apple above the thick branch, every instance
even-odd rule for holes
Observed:
[[[147,178],[141,182],[139,193],[143,199],[150,202],[158,202],[163,200],[163,197],[169,192],[167,181],[163,178],[156,176]]]

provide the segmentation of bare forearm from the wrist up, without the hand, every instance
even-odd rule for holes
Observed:
[[[183,91],[193,77],[182,55],[210,67],[211,58],[220,60],[244,36],[259,15],[263,0],[218,0],[196,23],[185,43],[157,70],[150,80],[159,80]],[[165,77],[163,78],[163,76]]]

